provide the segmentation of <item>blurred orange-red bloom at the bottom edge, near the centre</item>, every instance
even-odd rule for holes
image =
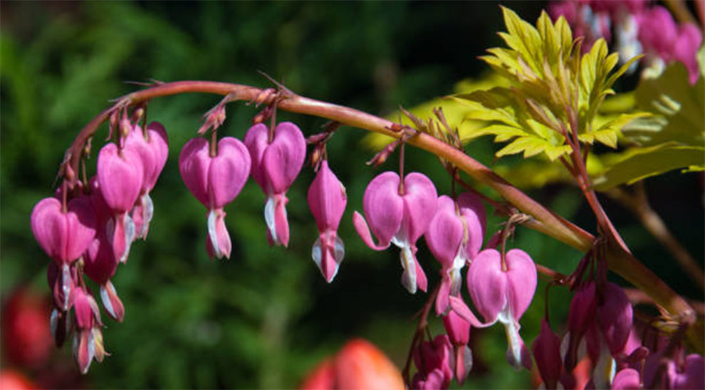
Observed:
[[[404,389],[399,369],[375,345],[352,339],[309,371],[301,389]]]

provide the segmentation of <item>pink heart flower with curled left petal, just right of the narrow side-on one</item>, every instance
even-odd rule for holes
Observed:
[[[389,248],[390,243],[401,248],[400,258],[404,273],[402,285],[412,294],[417,287],[427,288],[424,270],[416,258],[416,241],[425,233],[436,212],[436,187],[424,174],[412,172],[399,186],[399,175],[384,172],[370,181],[362,199],[370,226],[360,213],[355,211],[352,223],[362,241],[375,251]],[[372,233],[377,243],[372,241]]]

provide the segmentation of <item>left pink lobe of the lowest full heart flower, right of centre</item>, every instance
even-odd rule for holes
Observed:
[[[487,322],[495,322],[507,305],[508,288],[498,251],[486,249],[477,255],[468,269],[467,285],[480,314]]]

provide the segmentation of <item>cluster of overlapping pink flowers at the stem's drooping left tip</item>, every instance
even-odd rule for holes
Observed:
[[[83,275],[98,284],[105,312],[122,321],[125,308],[110,279],[127,261],[132,241],[147,238],[150,191],[167,153],[162,125],[152,122],[142,129],[125,117],[117,142],[98,153],[97,174],[73,188],[65,181],[55,197],[42,199],[32,211],[32,232],[53,259],[47,270],[54,298],[51,331],[58,345],[73,333],[73,354],[84,373],[107,352],[98,303]]]

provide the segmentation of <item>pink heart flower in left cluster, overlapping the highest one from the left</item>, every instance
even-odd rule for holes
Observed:
[[[142,159],[133,147],[119,149],[111,142],[100,149],[97,170],[100,192],[113,211],[107,226],[108,238],[115,258],[125,263],[135,239],[135,223],[127,213],[140,196],[144,176]]]

